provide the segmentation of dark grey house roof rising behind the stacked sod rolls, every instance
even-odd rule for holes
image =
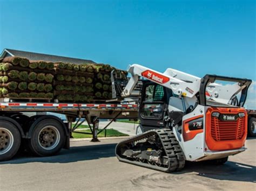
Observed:
[[[70,63],[77,63],[77,64],[96,63],[92,60],[69,58],[65,56],[56,56],[56,55],[41,54],[41,53],[35,53],[35,52],[18,51],[16,49],[9,49],[9,48],[5,48],[3,50],[1,54],[1,58],[4,58],[5,55],[20,56],[20,57],[25,57],[29,60],[44,60],[49,62],[70,62]]]

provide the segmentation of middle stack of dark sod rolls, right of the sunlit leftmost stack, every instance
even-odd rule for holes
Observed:
[[[93,100],[93,67],[72,63],[55,63],[54,95],[60,102]]]

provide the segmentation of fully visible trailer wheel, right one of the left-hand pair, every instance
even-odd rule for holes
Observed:
[[[43,119],[32,131],[29,147],[41,157],[58,153],[64,146],[63,126],[55,119]]]

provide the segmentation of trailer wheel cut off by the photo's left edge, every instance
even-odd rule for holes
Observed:
[[[21,145],[21,133],[14,124],[0,121],[0,161],[9,160]]]

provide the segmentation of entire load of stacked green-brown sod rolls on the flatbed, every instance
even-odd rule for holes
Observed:
[[[0,60],[0,97],[56,99],[85,103],[112,98],[110,65],[33,61],[6,57]]]

